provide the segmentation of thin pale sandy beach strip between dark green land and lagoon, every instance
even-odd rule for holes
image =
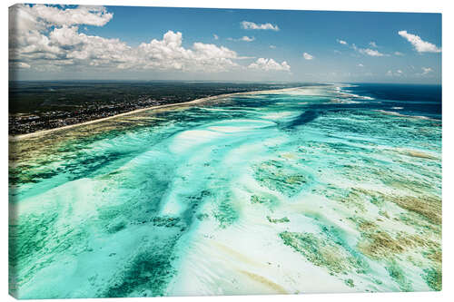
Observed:
[[[107,117],[104,117],[101,119],[94,119],[92,121],[74,123],[72,125],[66,125],[63,127],[58,127],[58,128],[53,128],[53,129],[40,130],[37,132],[30,132],[30,133],[19,134],[19,135],[8,135],[8,139],[9,139],[9,141],[21,141],[21,140],[25,140],[25,139],[29,139],[29,138],[33,138],[33,137],[38,137],[38,136],[41,136],[41,135],[44,135],[44,134],[47,134],[50,132],[67,130],[67,129],[71,129],[71,128],[75,128],[75,127],[79,127],[79,126],[89,125],[89,124],[96,123],[96,122],[104,122],[107,120],[111,120],[111,119],[114,119],[117,117],[126,116],[126,115],[130,115],[130,114],[134,114],[134,113],[146,112],[149,110],[156,110],[156,109],[169,108],[169,107],[177,107],[177,106],[181,106],[181,105],[188,105],[188,104],[194,104],[194,103],[199,103],[199,102],[208,102],[208,101],[212,101],[212,100],[216,100],[216,99],[220,99],[220,98],[230,97],[233,95],[257,94],[257,93],[266,93],[266,92],[283,92],[283,91],[301,89],[304,87],[313,87],[313,86],[301,86],[301,87],[291,87],[291,88],[282,88],[282,89],[252,91],[252,92],[244,92],[244,93],[224,93],[224,94],[219,94],[219,95],[212,95],[212,96],[207,96],[207,97],[200,98],[200,99],[195,99],[195,100],[192,100],[189,102],[175,102],[175,103],[156,105],[156,106],[146,107],[146,108],[141,108],[141,109],[135,109],[130,112],[123,112],[123,113],[115,114],[112,116],[107,116]]]

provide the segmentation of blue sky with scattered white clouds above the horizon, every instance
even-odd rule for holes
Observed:
[[[13,80],[441,83],[441,15],[14,5]]]

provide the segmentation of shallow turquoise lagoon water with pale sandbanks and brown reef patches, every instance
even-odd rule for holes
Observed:
[[[353,89],[239,94],[12,141],[10,291],[439,290],[441,121]]]

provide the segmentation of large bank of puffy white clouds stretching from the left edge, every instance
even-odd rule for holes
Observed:
[[[112,18],[101,6],[57,8],[46,5],[14,5],[10,8],[10,60],[14,68],[58,71],[63,66],[88,68],[178,70],[216,73],[244,68],[231,49],[196,42],[183,47],[183,34],[168,31],[137,47],[119,39],[84,34],[79,25],[102,26]],[[64,16],[61,17],[61,15]],[[217,35],[213,34],[216,38]],[[242,41],[252,38],[242,37]]]

